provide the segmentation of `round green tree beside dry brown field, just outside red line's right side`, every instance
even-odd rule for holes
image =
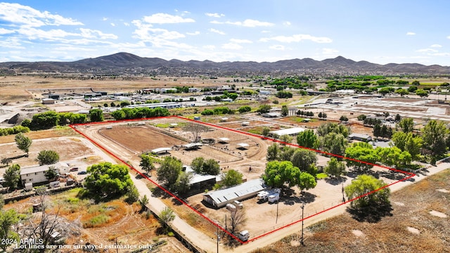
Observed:
[[[350,205],[352,207],[362,208],[373,205],[387,205],[390,203],[390,189],[386,186],[387,184],[382,180],[364,174],[357,176],[349,186],[345,187],[345,194],[349,200],[361,196],[351,202]]]

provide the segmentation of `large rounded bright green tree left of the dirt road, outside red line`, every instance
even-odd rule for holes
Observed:
[[[134,186],[128,167],[122,164],[101,162],[87,168],[84,186],[91,196],[98,198],[118,197],[128,193]]]

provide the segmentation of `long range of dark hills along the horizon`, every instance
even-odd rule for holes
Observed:
[[[87,58],[73,62],[8,62],[0,63],[1,72],[57,72],[80,74],[450,74],[450,67],[418,63],[380,65],[367,61],[356,62],[338,56],[326,60],[311,58],[278,60],[274,63],[253,61],[221,62],[210,60],[164,60],[144,58],[131,53]]]

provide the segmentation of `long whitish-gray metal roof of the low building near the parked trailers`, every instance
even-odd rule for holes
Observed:
[[[214,200],[214,202],[219,205],[222,202],[234,200],[238,197],[242,197],[251,193],[257,193],[264,189],[264,181],[262,179],[254,179],[245,183],[241,183],[238,186],[233,186],[224,190],[216,190],[214,192],[205,193],[203,195],[210,196],[212,200]]]

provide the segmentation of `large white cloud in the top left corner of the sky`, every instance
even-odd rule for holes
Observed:
[[[0,20],[12,22],[14,25],[41,27],[44,25],[83,25],[82,22],[48,11],[37,11],[21,4],[0,3]]]

